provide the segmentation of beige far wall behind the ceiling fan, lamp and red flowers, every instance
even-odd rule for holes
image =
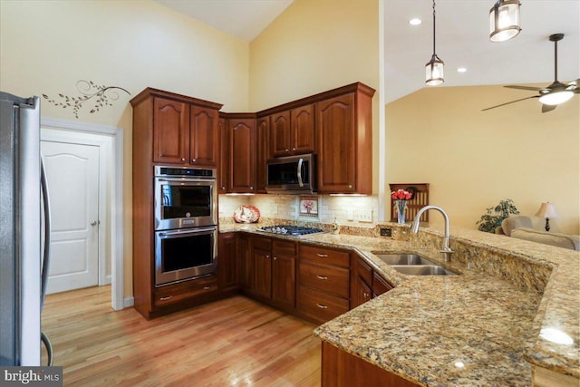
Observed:
[[[580,98],[544,114],[536,99],[481,111],[526,95],[501,86],[424,88],[389,103],[387,182],[430,183],[430,203],[448,211],[451,227],[476,228],[503,198],[532,218],[548,200],[561,216],[553,230],[580,234]],[[535,218],[536,227],[544,222]]]

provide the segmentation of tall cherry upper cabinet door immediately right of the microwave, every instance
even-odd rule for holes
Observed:
[[[318,192],[355,192],[354,94],[317,102],[316,123]]]

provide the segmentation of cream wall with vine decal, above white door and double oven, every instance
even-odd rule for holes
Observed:
[[[0,1],[0,89],[79,96],[76,82],[151,86],[247,111],[249,46],[189,17],[143,1]],[[91,114],[42,102],[43,117],[124,130],[125,295],[132,295],[131,97]]]

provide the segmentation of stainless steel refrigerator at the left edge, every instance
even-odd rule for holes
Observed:
[[[0,365],[41,365],[50,211],[40,99],[0,92]],[[41,189],[43,180],[44,189]],[[44,243],[46,241],[46,243]]]

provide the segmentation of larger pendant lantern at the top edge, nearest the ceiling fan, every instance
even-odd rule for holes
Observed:
[[[498,0],[489,10],[491,42],[506,42],[519,34],[519,5],[519,0]]]

